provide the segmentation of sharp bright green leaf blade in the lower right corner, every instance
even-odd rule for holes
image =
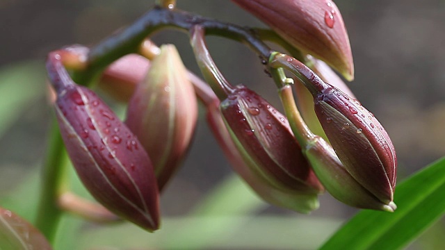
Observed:
[[[401,249],[445,213],[445,158],[397,186],[394,213],[363,210],[328,240],[323,249]]]

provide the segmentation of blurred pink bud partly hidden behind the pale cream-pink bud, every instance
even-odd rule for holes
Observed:
[[[149,66],[149,60],[143,56],[124,56],[105,69],[98,86],[114,99],[127,102],[140,80],[147,74]]]

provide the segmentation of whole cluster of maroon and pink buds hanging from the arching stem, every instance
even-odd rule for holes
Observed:
[[[348,34],[337,6],[324,0],[233,1],[304,55],[302,63],[273,52],[264,62],[279,87],[285,115],[256,92],[225,79],[210,56],[200,22],[189,28],[191,45],[211,90],[187,71],[173,45],[159,49],[144,42],[140,48],[147,53],[140,53],[149,60],[124,56],[99,78],[99,88],[128,103],[124,122],[65,69],[86,67],[76,58],[86,58],[88,49],[76,46],[49,54],[60,134],[92,196],[115,215],[147,231],[158,229],[159,194],[191,145],[199,98],[235,172],[262,199],[309,213],[327,190],[350,206],[394,211],[394,146],[331,69],[353,79]],[[295,75],[303,117],[284,69]]]

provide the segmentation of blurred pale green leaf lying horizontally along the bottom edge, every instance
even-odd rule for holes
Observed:
[[[132,224],[84,228],[78,238],[79,249],[195,249],[202,235],[212,231],[211,225],[223,222],[229,225],[223,234],[214,232],[205,249],[315,249],[341,223],[305,215],[166,217],[155,233]],[[187,238],[176,237],[178,228]]]

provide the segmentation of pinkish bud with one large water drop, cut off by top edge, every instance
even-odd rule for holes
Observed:
[[[232,0],[248,10],[287,42],[324,60],[349,81],[353,56],[343,18],[333,1]]]

